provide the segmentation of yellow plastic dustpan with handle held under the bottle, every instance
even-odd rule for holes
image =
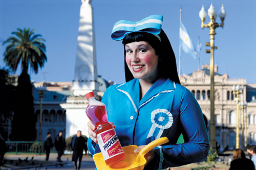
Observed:
[[[152,149],[157,147],[158,145],[167,143],[169,140],[167,137],[161,137],[148,143],[139,153],[134,153],[134,150],[138,148],[137,145],[129,145],[127,147],[123,147],[123,152],[125,154],[125,159],[119,161],[113,165],[107,165],[104,161],[104,158],[101,153],[97,153],[93,155],[93,160],[96,164],[98,170],[108,170],[108,169],[122,169],[122,170],[137,170],[143,169],[146,163],[146,159],[144,155],[150,152]]]

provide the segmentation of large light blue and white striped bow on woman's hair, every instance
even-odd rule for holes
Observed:
[[[163,16],[150,15],[140,21],[119,20],[115,23],[111,37],[114,40],[122,40],[132,32],[147,32],[158,35],[161,32]]]

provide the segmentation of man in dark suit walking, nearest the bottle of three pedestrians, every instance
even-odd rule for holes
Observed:
[[[75,170],[80,169],[82,161],[82,152],[87,151],[86,139],[81,136],[81,131],[77,131],[76,135],[71,139],[71,147],[73,151],[72,161],[74,162]],[[77,166],[77,160],[79,163]]]

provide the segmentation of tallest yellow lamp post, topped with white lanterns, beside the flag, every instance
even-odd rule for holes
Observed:
[[[224,27],[224,19],[226,16],[226,12],[224,10],[224,6],[222,5],[221,10],[219,11],[219,15],[221,18],[221,23],[217,23],[216,20],[216,12],[212,3],[210,8],[208,9],[208,15],[210,18],[210,22],[207,24],[204,23],[207,13],[204,10],[204,6],[202,6],[201,11],[199,12],[199,17],[201,18],[201,27],[202,29],[207,27],[210,29],[210,42],[206,42],[206,46],[210,46],[210,50],[206,50],[206,53],[210,53],[210,147],[216,151],[216,127],[215,127],[215,109],[214,109],[214,50],[217,49],[214,46],[214,36],[216,34],[215,29],[218,27]]]

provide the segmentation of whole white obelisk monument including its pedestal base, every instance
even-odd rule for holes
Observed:
[[[73,95],[67,98],[67,103],[60,105],[66,109],[66,138],[76,134],[78,130],[88,136],[89,118],[85,112],[88,101],[84,94],[98,91],[97,78],[93,8],[91,0],[82,0],[75,76],[72,86]]]

